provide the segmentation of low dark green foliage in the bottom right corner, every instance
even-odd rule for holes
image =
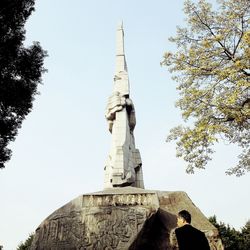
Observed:
[[[250,221],[237,231],[223,222],[217,222],[216,216],[209,221],[218,229],[225,250],[249,250],[250,249]]]

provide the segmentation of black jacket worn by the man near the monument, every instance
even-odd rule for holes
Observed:
[[[210,250],[203,232],[187,224],[175,229],[180,250]]]

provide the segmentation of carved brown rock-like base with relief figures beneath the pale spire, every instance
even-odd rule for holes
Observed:
[[[185,192],[122,187],[81,195],[36,229],[31,250],[178,249],[176,214],[188,210],[211,250],[223,250],[217,229]]]

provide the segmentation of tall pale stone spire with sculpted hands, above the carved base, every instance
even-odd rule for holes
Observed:
[[[105,117],[111,133],[111,149],[104,168],[104,188],[133,186],[144,188],[142,162],[135,148],[135,108],[130,99],[122,23],[116,32],[116,65],[113,93],[108,99]]]

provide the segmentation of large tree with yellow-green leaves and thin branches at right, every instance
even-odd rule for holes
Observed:
[[[176,52],[162,65],[177,81],[176,105],[189,126],[177,126],[167,141],[177,140],[177,156],[186,171],[205,168],[214,143],[227,140],[242,150],[227,174],[250,171],[250,1],[219,0],[217,11],[205,0],[184,4],[187,27],[170,38]]]

